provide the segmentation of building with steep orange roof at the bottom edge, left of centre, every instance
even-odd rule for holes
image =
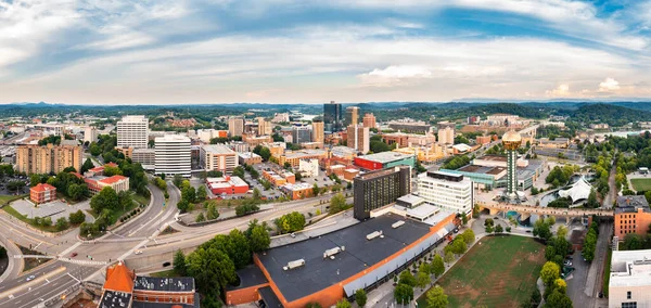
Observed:
[[[123,261],[106,268],[99,308],[199,308],[194,279],[136,275]]]

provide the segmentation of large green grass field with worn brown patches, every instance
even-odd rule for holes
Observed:
[[[438,284],[449,307],[520,307],[536,287],[545,246],[531,238],[489,236],[477,243]],[[424,295],[419,307],[426,307]]]

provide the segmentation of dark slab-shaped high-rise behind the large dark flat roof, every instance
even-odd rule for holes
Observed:
[[[353,180],[355,193],[353,216],[359,220],[371,217],[371,210],[396,202],[411,193],[411,168],[398,166],[367,172]]]

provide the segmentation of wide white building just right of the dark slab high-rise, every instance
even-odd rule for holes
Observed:
[[[472,181],[463,175],[445,171],[420,175],[418,195],[429,204],[459,214],[472,213],[474,204]]]

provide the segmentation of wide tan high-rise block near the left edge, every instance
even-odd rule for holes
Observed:
[[[63,140],[60,145],[18,145],[16,171],[31,174],[59,174],[67,167],[81,170],[84,150],[76,140]]]

